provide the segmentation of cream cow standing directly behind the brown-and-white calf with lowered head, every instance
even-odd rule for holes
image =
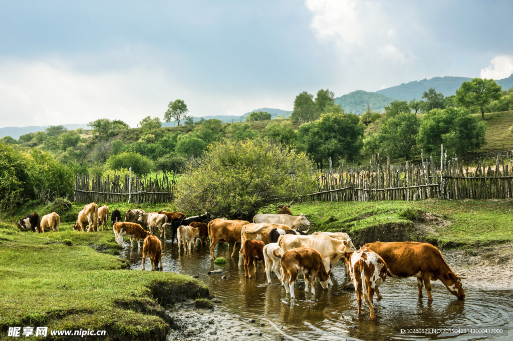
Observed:
[[[311,248],[319,251],[323,257],[324,266],[326,271],[330,270],[331,266],[337,264],[340,258],[344,257],[344,251],[356,251],[350,240],[337,240],[327,236],[313,236],[313,235],[293,235],[286,234],[278,238],[278,245],[282,248],[283,252],[294,248]],[[283,283],[283,278],[282,278]],[[328,283],[331,285],[333,282],[328,278]]]

